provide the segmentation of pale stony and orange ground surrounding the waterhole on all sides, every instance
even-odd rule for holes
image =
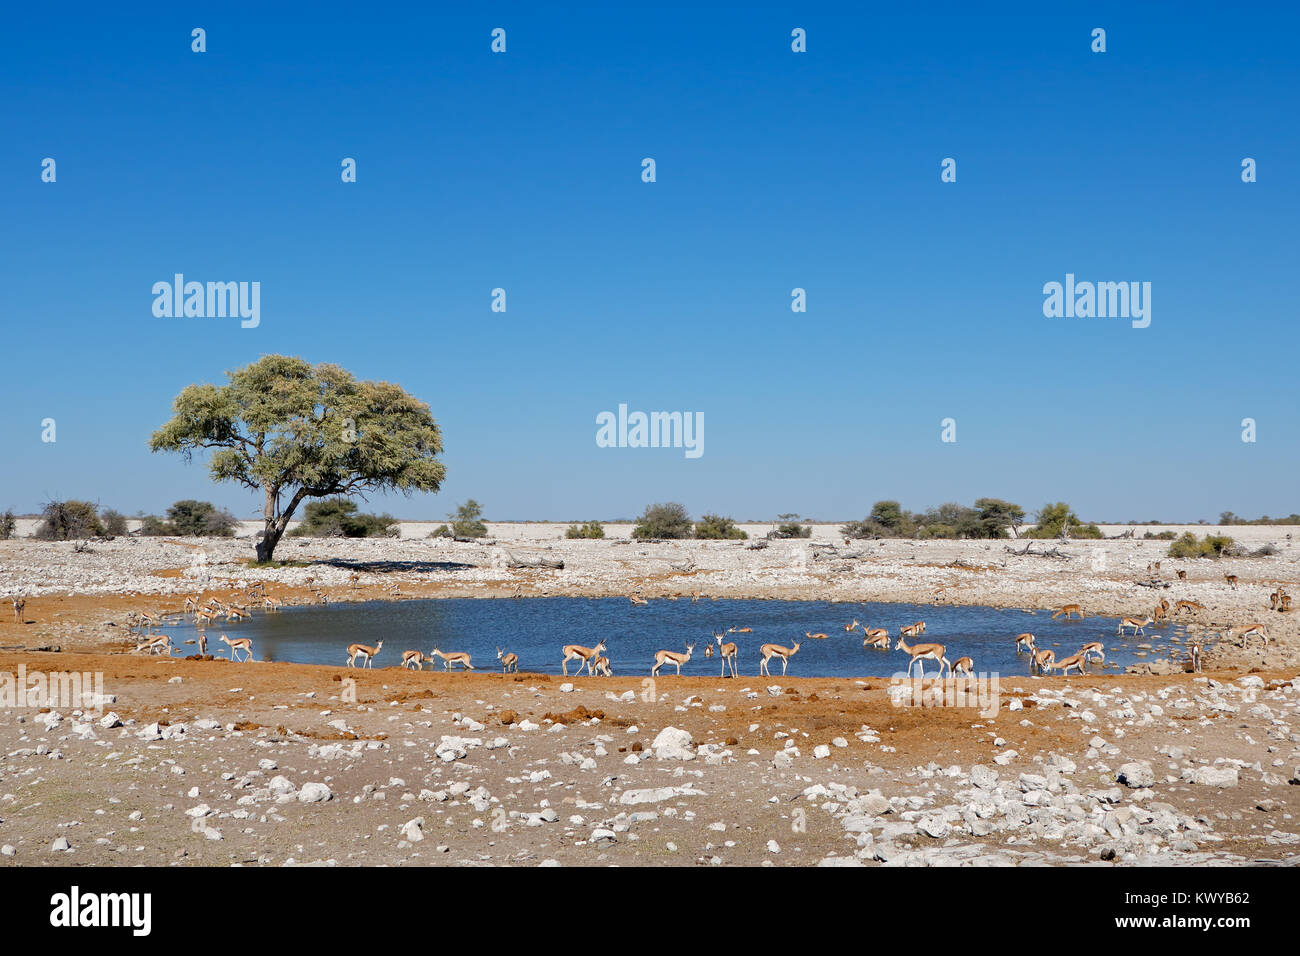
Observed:
[[[21,620],[0,606],[0,678],[98,672],[107,695],[0,708],[0,865],[1295,864],[1300,641],[1268,594],[1295,585],[1300,555],[1286,529],[1232,532],[1279,553],[407,538],[286,541],[286,566],[250,568],[239,540],[0,542],[0,594],[27,596]],[[508,567],[537,558],[564,567]],[[1153,579],[1170,587],[1138,584]],[[286,602],[638,593],[1089,615],[1167,596],[1204,605],[1184,619],[1209,639],[1208,672],[1009,676],[991,714],[988,687],[975,706],[900,706],[881,679],[647,685],[121,653],[127,611],[254,581]],[[1254,620],[1268,648],[1214,640]]]

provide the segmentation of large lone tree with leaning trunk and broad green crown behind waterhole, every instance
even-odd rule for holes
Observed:
[[[263,492],[257,561],[272,559],[304,498],[442,485],[442,432],[429,406],[398,385],[289,355],[264,355],[226,375],[226,385],[185,388],[150,449],[186,460],[213,449],[213,481]]]

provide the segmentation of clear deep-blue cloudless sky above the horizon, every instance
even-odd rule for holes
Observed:
[[[430,405],[447,481],[372,499],[402,518],[1300,510],[1300,14],[1128,7],[16,9],[0,509],[251,515],[147,440],[289,352]],[[260,326],[156,319],[176,272],[259,281]],[[1044,317],[1066,273],[1149,281],[1150,328]],[[619,403],[705,454],[597,447]]]

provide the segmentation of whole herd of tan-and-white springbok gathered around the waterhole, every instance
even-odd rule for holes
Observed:
[[[354,579],[356,575],[352,576]],[[1225,575],[1228,584],[1236,587],[1236,575]],[[312,585],[315,579],[308,579],[308,585]],[[355,580],[352,581],[355,585]],[[320,589],[315,589],[317,602],[328,602],[329,597]],[[693,593],[692,601],[701,600],[701,594]],[[630,602],[633,606],[645,606],[649,601],[644,597],[632,597]],[[23,609],[26,607],[26,600],[22,597],[10,598],[13,605],[14,620],[21,622]],[[244,620],[248,619],[254,609],[263,609],[266,611],[277,611],[281,607],[281,601],[270,597],[265,593],[261,584],[254,584],[247,588],[247,598],[243,602],[228,602],[216,597],[203,598],[187,597],[185,600],[185,606],[179,611],[179,619],[192,617],[195,624],[198,626],[199,633],[196,641],[186,641],[187,644],[196,643],[200,654],[208,653],[208,639],[204,628],[218,620],[225,619],[228,622]],[[1154,606],[1150,615],[1145,618],[1121,618],[1119,624],[1115,628],[1117,635],[1123,635],[1128,631],[1136,635],[1144,635],[1145,628],[1152,624],[1167,623],[1171,618],[1182,614],[1184,611],[1204,611],[1204,605],[1196,601],[1175,601],[1170,604],[1167,598],[1164,598]],[[1286,588],[1279,585],[1269,596],[1269,610],[1274,611],[1290,611],[1291,610],[1291,596],[1286,592]],[[168,614],[152,614],[150,611],[131,611],[126,617],[126,623],[129,631],[140,635],[140,640],[136,643],[134,653],[148,653],[148,654],[166,654],[172,656],[179,653],[172,646],[170,636],[165,633],[146,633],[151,627],[160,627],[170,615]],[[1070,620],[1078,617],[1079,620],[1084,619],[1083,607],[1078,604],[1067,604],[1060,607],[1052,614],[1052,619],[1065,618]],[[862,630],[862,646],[874,648],[878,650],[890,649],[890,635],[887,628],[883,627],[867,627],[859,623],[857,619],[844,626],[845,633],[852,633],[857,630]],[[907,640],[915,640],[926,632],[926,622],[918,620],[913,624],[907,624],[898,628],[898,640],[893,645],[894,650],[901,650],[909,657],[907,662],[907,675],[911,676],[913,667],[920,669],[920,676],[926,676],[926,661],[933,661],[939,665],[939,676],[942,678],[945,669],[949,676],[965,675],[971,676],[975,671],[975,662],[970,657],[958,657],[956,661],[949,661],[948,648],[942,644],[909,644]],[[731,627],[727,633],[753,633],[751,627]],[[803,632],[807,640],[827,640],[829,635],[819,632],[812,633],[809,631]],[[1244,645],[1248,637],[1260,637],[1264,640],[1265,645],[1269,643],[1268,628],[1258,622],[1249,624],[1240,624],[1230,627],[1227,631],[1221,632],[1221,637],[1227,636],[1239,645]],[[243,661],[252,661],[252,641],[248,637],[240,637],[237,640],[230,640],[226,635],[221,635],[221,643],[226,644],[230,649],[230,659],[239,661],[239,654],[243,654]],[[723,633],[714,632],[712,641],[705,646],[705,657],[714,656],[714,645],[716,644],[718,654],[722,658],[722,672],[720,676],[737,676],[736,662],[740,657],[740,649],[733,641],[725,640]],[[802,644],[800,641],[793,641],[792,646],[785,646],[784,644],[763,644],[759,646],[759,665],[758,672],[760,676],[771,676],[768,665],[772,658],[780,658],[781,661],[781,675],[785,675],[789,669],[790,658],[794,657]],[[363,667],[373,667],[374,658],[380,654],[384,648],[384,641],[378,641],[374,646],[365,644],[350,644],[347,646],[347,666],[355,667],[358,659],[361,661]],[[614,676],[614,670],[610,665],[610,658],[604,654],[607,650],[606,643],[601,641],[594,648],[588,648],[581,644],[566,644],[560,653],[560,670],[564,676],[568,676],[568,665],[571,662],[577,663],[577,674],[582,674],[584,669],[592,676],[603,675]],[[650,670],[651,676],[658,676],[659,671],[666,666],[672,666],[677,675],[681,674],[682,665],[688,663],[692,654],[696,650],[694,643],[685,644],[685,653],[676,650],[656,650],[654,654],[654,665]],[[1201,670],[1201,641],[1193,640],[1187,644],[1188,659],[1192,663],[1195,671]],[[1101,641],[1092,641],[1084,644],[1078,653],[1069,657],[1056,658],[1056,653],[1049,649],[1039,649],[1035,644],[1035,636],[1032,633],[1020,633],[1015,636],[1015,653],[1017,656],[1027,653],[1030,656],[1030,670],[1037,671],[1040,674],[1046,674],[1053,670],[1060,670],[1062,675],[1069,675],[1071,670],[1076,674],[1084,674],[1088,661],[1096,657],[1098,662],[1105,663],[1106,654],[1105,646]],[[474,670],[472,658],[468,653],[456,652],[443,652],[434,646],[428,654],[420,650],[404,650],[402,652],[402,666],[412,670],[424,670],[425,663],[436,663],[438,658],[442,658],[443,669],[450,671],[455,665],[459,665],[462,670]],[[500,662],[504,672],[517,672],[519,671],[519,656],[515,653],[506,652],[502,648],[497,648],[497,659]]]

